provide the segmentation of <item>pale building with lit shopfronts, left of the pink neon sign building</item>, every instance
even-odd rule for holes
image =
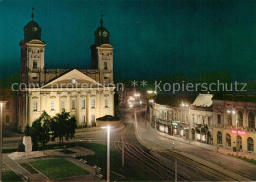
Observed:
[[[212,144],[212,94],[199,94],[187,107],[153,103],[152,125],[169,135]]]

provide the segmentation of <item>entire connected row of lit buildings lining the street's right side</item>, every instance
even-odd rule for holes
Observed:
[[[256,103],[252,97],[233,100],[199,94],[190,107],[154,103],[150,115],[157,130],[224,147],[232,151],[256,152]],[[233,100],[233,101],[230,101]]]

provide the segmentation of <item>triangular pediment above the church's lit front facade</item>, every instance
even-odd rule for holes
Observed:
[[[52,80],[42,88],[96,88],[102,87],[94,79],[74,69]]]

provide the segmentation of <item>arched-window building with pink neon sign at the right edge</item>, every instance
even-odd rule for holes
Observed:
[[[256,152],[255,113],[253,102],[214,100],[214,145]]]

